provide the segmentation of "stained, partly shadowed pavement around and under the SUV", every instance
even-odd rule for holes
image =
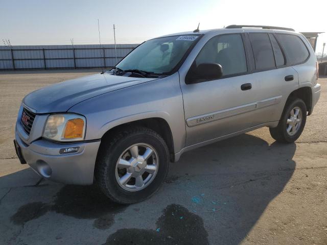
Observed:
[[[39,177],[15,156],[22,97],[94,70],[0,72],[0,244],[327,244],[327,79],[294,144],[268,128],[185,153],[151,199]]]

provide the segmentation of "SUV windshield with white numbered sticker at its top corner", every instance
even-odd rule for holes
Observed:
[[[170,36],[151,39],[127,55],[117,68],[165,74],[175,68],[199,35]]]

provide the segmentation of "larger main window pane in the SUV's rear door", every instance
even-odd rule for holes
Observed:
[[[274,54],[267,33],[249,33],[255,68],[257,70],[275,67]]]

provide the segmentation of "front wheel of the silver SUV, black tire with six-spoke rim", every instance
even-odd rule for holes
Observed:
[[[144,161],[151,151],[152,155]],[[118,162],[119,159],[123,160]],[[130,165],[127,166],[125,160]],[[143,127],[126,128],[101,143],[95,177],[109,199],[116,203],[132,204],[148,199],[159,189],[168,174],[169,163],[168,146],[159,134]],[[151,169],[148,169],[149,165]],[[132,177],[127,182],[123,181],[129,176]],[[143,186],[139,176],[142,176]]]

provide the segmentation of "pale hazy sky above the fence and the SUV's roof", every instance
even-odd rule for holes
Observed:
[[[0,45],[141,43],[161,35],[256,24],[320,34],[327,42],[327,0],[0,0]],[[327,53],[327,46],[325,48]]]

